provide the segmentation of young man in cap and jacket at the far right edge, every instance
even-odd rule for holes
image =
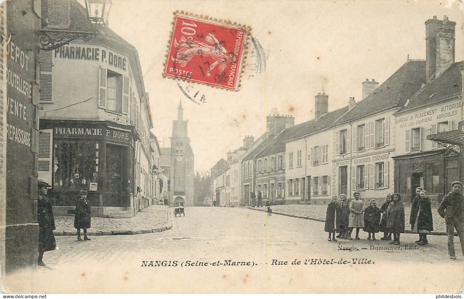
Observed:
[[[464,196],[463,183],[454,181],[451,183],[451,192],[446,194],[438,206],[438,214],[445,218],[446,234],[448,235],[448,254],[456,260],[454,251],[454,229],[458,232],[461,250],[464,255]]]

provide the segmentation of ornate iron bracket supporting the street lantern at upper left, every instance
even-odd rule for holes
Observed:
[[[83,37],[84,41],[96,36],[97,32],[65,31],[65,30],[39,30],[40,50],[52,51],[69,44],[76,38]]]

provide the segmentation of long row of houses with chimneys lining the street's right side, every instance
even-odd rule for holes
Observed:
[[[329,111],[315,97],[315,117],[266,117],[266,132],[245,137],[211,169],[220,206],[326,204],[333,194],[383,200],[417,186],[441,199],[464,178],[463,62],[455,62],[455,22],[429,19],[425,60],[406,62],[379,85],[362,82],[362,100]]]

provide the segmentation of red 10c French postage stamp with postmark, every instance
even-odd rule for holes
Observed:
[[[176,14],[164,76],[238,90],[248,29]]]

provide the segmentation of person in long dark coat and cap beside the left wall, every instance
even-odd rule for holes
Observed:
[[[45,263],[42,261],[45,251],[55,250],[57,243],[53,236],[55,230],[55,218],[53,217],[52,202],[45,195],[47,195],[47,188],[52,187],[48,181],[39,179],[37,196],[37,222],[39,222],[39,257],[37,264],[44,267]]]

